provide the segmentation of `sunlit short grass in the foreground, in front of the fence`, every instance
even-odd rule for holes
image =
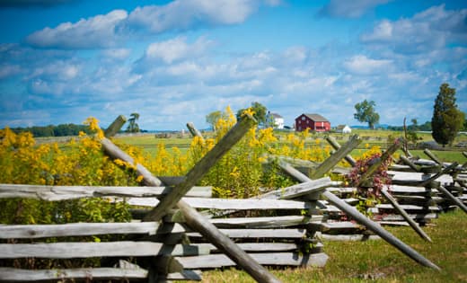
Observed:
[[[433,243],[424,242],[410,227],[388,228],[401,241],[442,270],[420,266],[383,240],[324,242],[330,259],[322,269],[271,270],[283,282],[467,282],[467,215],[460,209],[441,215],[423,227]],[[203,282],[254,282],[240,270],[203,272]]]

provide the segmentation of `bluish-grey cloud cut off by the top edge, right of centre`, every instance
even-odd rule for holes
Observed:
[[[358,18],[375,6],[386,4],[392,0],[330,0],[318,15],[335,18]]]

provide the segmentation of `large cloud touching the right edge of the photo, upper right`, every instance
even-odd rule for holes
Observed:
[[[428,52],[443,49],[448,43],[465,44],[467,9],[447,11],[442,4],[409,19],[383,20],[374,26],[373,31],[362,34],[360,40],[398,53]]]

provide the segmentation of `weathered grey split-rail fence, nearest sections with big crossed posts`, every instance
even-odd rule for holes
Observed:
[[[116,119],[107,129],[106,137],[113,136],[124,122],[122,117]],[[0,198],[56,201],[105,197],[114,201],[123,199],[137,207],[132,210],[134,219],[130,223],[0,225],[0,238],[3,239],[0,259],[3,260],[98,257],[111,258],[114,262],[112,266],[81,269],[21,270],[13,266],[2,267],[0,281],[200,280],[200,270],[237,266],[259,282],[278,282],[263,265],[323,266],[326,263],[328,256],[323,252],[317,235],[334,227],[345,229],[347,225],[329,221],[333,212],[330,208],[339,209],[357,220],[358,229],[380,236],[414,261],[439,270],[434,263],[361,215],[353,207],[355,199],[347,199],[347,202],[339,199],[337,194],[347,193],[351,188],[341,188],[328,177],[323,177],[325,172],[336,170],[336,164],[343,158],[352,164],[353,159],[348,153],[359,144],[357,137],[350,138],[346,146],[339,148],[335,145],[336,152],[322,164],[313,164],[313,171],[306,175],[281,160],[284,172],[300,183],[254,199],[212,199],[209,187],[196,187],[209,168],[252,125],[254,119],[251,117],[239,121],[186,176],[155,177],[137,164],[136,172],[143,177],[145,187],[0,185]],[[200,135],[196,131],[191,132]],[[101,143],[110,158],[134,164],[131,157],[109,139],[104,137]],[[302,170],[304,168],[306,166],[301,166]],[[48,243],[50,241],[47,240],[100,234],[121,234],[125,235],[125,240],[110,243]],[[16,240],[34,243],[14,243]]]

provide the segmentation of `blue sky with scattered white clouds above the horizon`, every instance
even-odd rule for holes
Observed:
[[[207,128],[260,102],[357,125],[431,119],[439,86],[467,111],[467,3],[434,0],[0,0],[0,128]]]

